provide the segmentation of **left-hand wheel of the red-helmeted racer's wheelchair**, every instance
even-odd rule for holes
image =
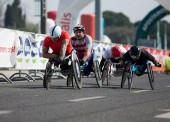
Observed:
[[[104,83],[105,81],[105,78],[107,78],[107,82],[109,80],[109,61],[107,60],[104,64],[104,68],[103,68],[103,71],[102,71],[102,84]]]

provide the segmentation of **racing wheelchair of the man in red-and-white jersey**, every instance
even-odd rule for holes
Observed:
[[[99,88],[102,87],[102,77],[101,77],[101,71],[99,66],[100,57],[101,56],[96,54],[95,51],[93,50],[92,56],[81,67],[82,76],[89,76],[91,72],[94,73]],[[88,66],[89,64],[92,64],[92,66]]]

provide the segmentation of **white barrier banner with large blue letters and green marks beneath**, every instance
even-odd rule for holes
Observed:
[[[45,69],[47,59],[42,57],[43,35],[29,38],[30,33],[17,31],[20,49],[17,54],[16,69]]]

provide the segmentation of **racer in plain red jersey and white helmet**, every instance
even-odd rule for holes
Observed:
[[[49,48],[52,49],[52,53],[49,52]],[[65,56],[71,54],[72,45],[70,42],[70,35],[66,31],[62,31],[61,27],[55,25],[50,28],[49,35],[47,35],[43,42],[42,56],[48,58],[49,66],[52,62],[56,66],[60,65],[60,68],[65,70],[68,66],[68,60],[63,60]]]

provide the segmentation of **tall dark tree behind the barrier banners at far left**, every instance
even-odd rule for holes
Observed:
[[[7,5],[5,12],[5,27],[7,28],[25,28],[26,15],[23,15],[20,5],[20,0],[14,0],[12,5]]]

